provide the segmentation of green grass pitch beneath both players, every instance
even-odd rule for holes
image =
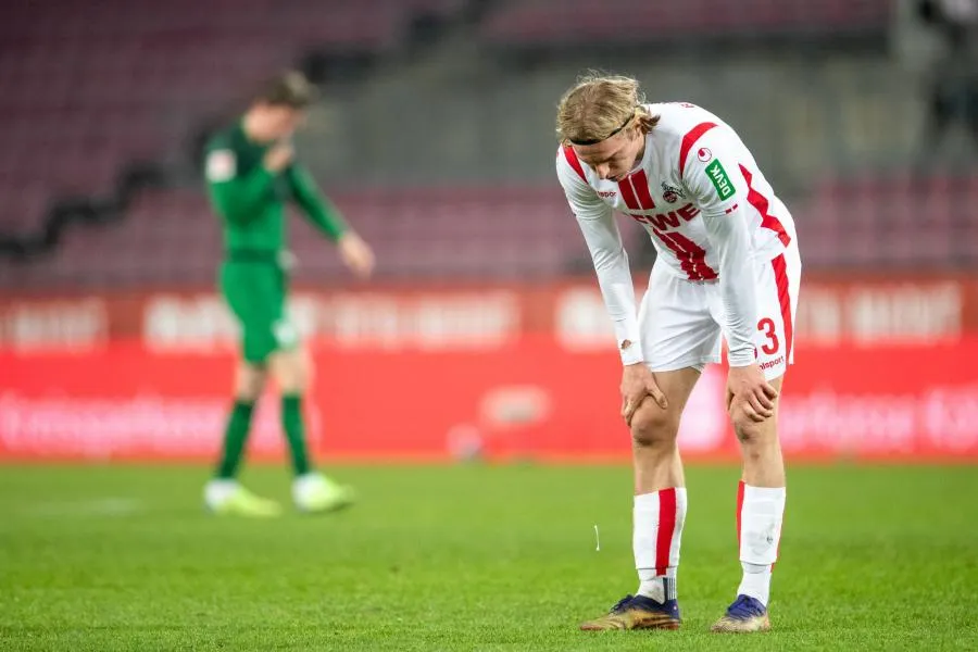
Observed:
[[[577,630],[635,589],[626,467],[336,475],[352,510],[255,522],[203,513],[202,468],[0,467],[0,649],[978,649],[975,467],[792,468],[774,631],[739,638],[707,631],[732,467],[689,471],[678,632]],[[287,500],[279,468],[244,479]]]

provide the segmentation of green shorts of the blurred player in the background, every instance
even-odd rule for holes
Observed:
[[[294,349],[299,335],[288,318],[288,275],[274,260],[221,265],[221,293],[241,328],[241,354],[262,365],[276,351]]]

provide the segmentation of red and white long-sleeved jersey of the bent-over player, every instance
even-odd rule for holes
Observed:
[[[561,185],[598,272],[625,364],[642,360],[628,258],[614,211],[641,223],[656,266],[689,281],[719,283],[730,364],[753,362],[756,329],[753,264],[794,240],[794,223],[737,133],[688,103],[648,104],[660,120],[636,168],[600,179],[570,147],[557,150]],[[626,341],[628,342],[626,344]]]

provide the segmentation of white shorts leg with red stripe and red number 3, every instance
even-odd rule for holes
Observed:
[[[767,263],[756,263],[757,323],[754,344],[757,364],[772,380],[785,375],[794,360],[794,317],[801,285],[795,246]]]

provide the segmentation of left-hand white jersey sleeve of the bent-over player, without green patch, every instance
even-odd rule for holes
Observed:
[[[556,168],[567,203],[577,217],[577,224],[591,253],[601,296],[614,325],[622,363],[640,363],[644,356],[636,313],[635,287],[614,212],[585,183],[563,150],[557,150]]]

